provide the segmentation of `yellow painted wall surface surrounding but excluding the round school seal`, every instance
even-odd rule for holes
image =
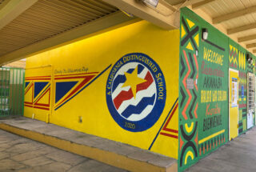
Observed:
[[[122,129],[110,115],[106,103],[106,82],[110,70],[122,56],[130,53],[148,55],[161,68],[166,80],[165,108],[158,121],[148,130],[141,132]],[[54,83],[50,85],[50,107],[49,110],[34,110],[33,107],[25,106],[24,115],[31,118],[34,114],[34,118],[47,121],[47,114],[50,114],[50,123],[124,142],[145,150],[150,148],[155,138],[150,150],[178,158],[178,108],[175,109],[178,106],[178,102],[176,102],[178,98],[178,54],[179,30],[161,30],[145,21],[135,22],[54,50],[36,54],[27,58],[26,82],[30,82],[30,84],[32,82]],[[74,74],[74,76],[79,76],[80,73],[84,72],[96,72],[94,77],[97,77],[110,65],[112,66],[89,86],[58,110],[55,110],[58,105],[54,103],[54,90],[58,75]],[[79,69],[83,70],[79,72]],[[86,77],[87,75],[82,74],[81,76]],[[77,80],[78,84],[82,82],[81,78]],[[66,78],[66,81],[72,81],[72,78]],[[42,95],[43,91],[46,90],[42,90],[38,95]],[[25,102],[26,99],[31,98],[32,91],[30,90],[30,92],[31,94],[29,91],[27,92]],[[41,102],[43,101],[47,102],[48,99],[41,98]],[[170,119],[170,117],[172,118]]]

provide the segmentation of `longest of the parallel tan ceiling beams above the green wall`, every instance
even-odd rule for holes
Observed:
[[[238,18],[246,14],[254,13],[256,12],[256,6],[251,6],[249,8],[243,9],[243,10],[237,10],[229,14],[223,14],[221,16],[218,16],[216,18],[213,18],[213,23],[218,24],[220,22],[225,22],[227,20]]]

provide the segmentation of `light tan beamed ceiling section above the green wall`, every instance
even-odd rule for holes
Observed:
[[[256,0],[204,0],[191,8],[234,41],[256,53]]]

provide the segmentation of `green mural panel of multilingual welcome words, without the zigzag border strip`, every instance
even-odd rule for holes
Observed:
[[[199,50],[198,152],[206,156],[228,141],[228,38],[208,23]]]

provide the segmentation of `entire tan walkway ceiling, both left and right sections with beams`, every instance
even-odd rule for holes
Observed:
[[[256,0],[0,0],[0,64],[134,19],[123,10],[178,28],[183,6],[256,53]]]

